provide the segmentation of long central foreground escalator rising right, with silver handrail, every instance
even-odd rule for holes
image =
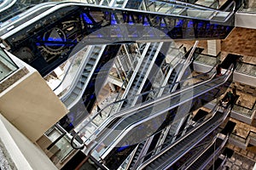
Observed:
[[[222,77],[218,80],[213,79],[208,83],[205,82],[201,83],[201,85],[195,85],[195,87],[193,87],[194,96],[192,99],[201,99],[202,105],[206,104],[212,99],[215,99],[219,95],[223,94],[226,88],[229,86],[230,80],[232,79],[231,75],[232,73],[230,72],[227,73],[226,77]],[[125,118],[119,117],[119,119],[115,119],[113,121],[114,123],[110,123],[108,128],[106,128],[108,129],[108,133],[104,133],[103,130],[96,139],[90,139],[91,141],[97,141],[97,143],[99,143],[99,145],[96,146],[96,149],[93,150],[92,154],[94,156],[100,155],[100,157],[106,161],[107,167],[111,169],[116,168],[113,166],[117,166],[117,160],[122,162],[122,159],[125,158],[125,156],[122,154],[123,152],[126,153],[126,156],[127,153],[131,153],[130,151],[135,148],[137,143],[155,133],[161,124],[165,124],[163,120],[165,120],[165,117],[168,115],[168,111],[173,111],[177,105],[183,105],[185,102],[188,102],[189,95],[187,93],[189,93],[190,90],[187,89],[183,91],[184,96],[187,96],[186,99],[182,99],[183,101],[180,101],[180,94],[177,92],[174,93],[176,95],[170,94],[169,98],[172,98],[171,101],[167,97],[167,100],[161,99],[159,103],[154,102],[154,105],[150,107],[148,106],[149,104],[146,108],[142,106],[141,108],[135,110],[136,112],[134,112],[134,109],[131,108],[130,111],[133,111],[131,116],[125,116]],[[196,108],[194,107],[194,109]],[[147,129],[147,131],[144,131],[143,129]],[[102,147],[102,145],[105,147]]]

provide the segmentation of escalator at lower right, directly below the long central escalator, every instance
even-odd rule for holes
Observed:
[[[160,151],[160,154],[145,161],[138,169],[166,169],[171,167],[175,161],[186,154],[195,144],[198,144],[207,134],[212,133],[228,114],[229,111],[222,113],[217,110],[207,122],[203,122],[175,143],[168,145],[166,149]],[[220,140],[219,143],[222,144],[222,142],[223,140]]]

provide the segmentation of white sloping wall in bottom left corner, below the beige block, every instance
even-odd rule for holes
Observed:
[[[0,114],[0,139],[19,170],[55,170],[44,152]]]

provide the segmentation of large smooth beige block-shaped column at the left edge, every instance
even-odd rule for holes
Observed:
[[[44,78],[34,71],[0,94],[0,112],[35,142],[68,111]]]

